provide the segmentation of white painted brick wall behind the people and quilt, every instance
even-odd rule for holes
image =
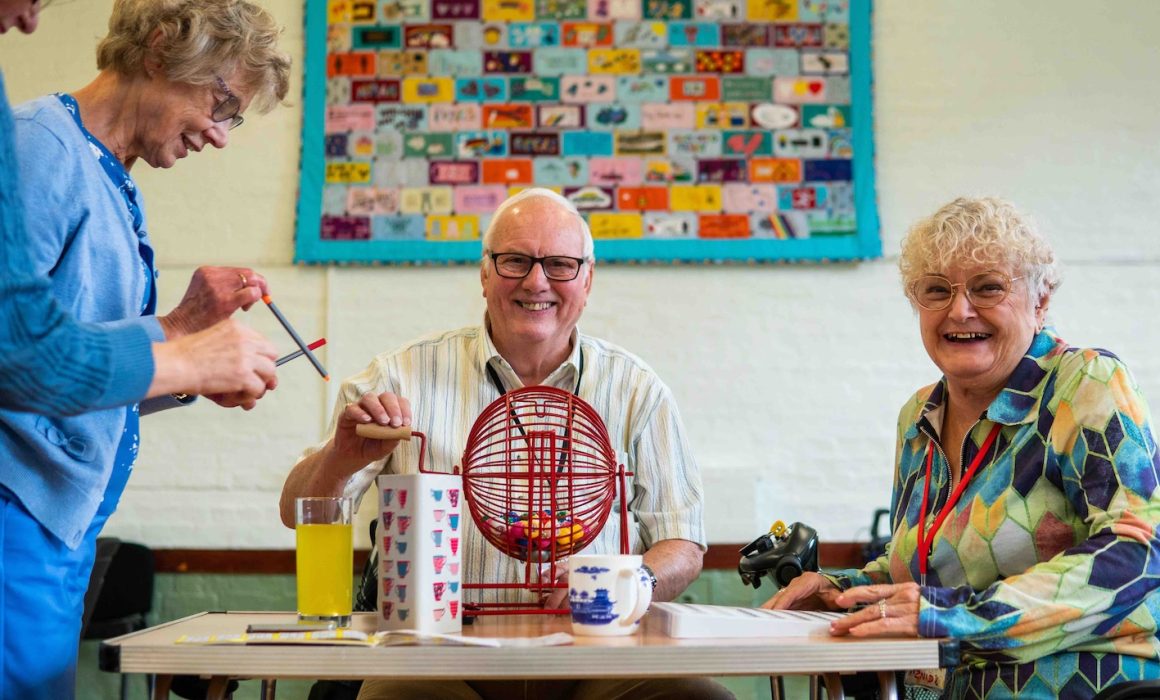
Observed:
[[[10,98],[82,85],[109,5],[50,7],[32,37],[6,36]],[[300,60],[300,1],[268,5]],[[775,518],[827,540],[865,535],[889,503],[897,410],[937,377],[899,290],[898,241],[959,194],[1007,196],[1036,215],[1065,265],[1057,327],[1121,354],[1160,402],[1158,34],[1152,0],[878,0],[887,259],[599,268],[582,329],[637,352],[672,385],[703,469],[711,540],[747,541]],[[299,118],[297,106],[247,115],[226,151],[135,171],[164,301],[180,298],[200,261],[252,265],[304,337],[329,339],[321,358],[336,378],[419,333],[478,322],[473,268],[290,265]],[[249,320],[289,347],[264,309]],[[150,418],[109,532],[158,547],[290,547],[278,491],[321,435],[335,387],[303,361],[280,381],[249,413],[204,403]]]

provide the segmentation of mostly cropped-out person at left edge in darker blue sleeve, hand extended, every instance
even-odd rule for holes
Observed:
[[[0,35],[39,23],[38,0],[0,0]],[[139,326],[81,324],[30,262],[32,248],[0,71],[0,407],[72,416],[171,392],[252,407],[275,383],[274,346],[233,319],[174,342]]]

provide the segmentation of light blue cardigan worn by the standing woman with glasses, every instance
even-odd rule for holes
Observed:
[[[139,316],[145,276],[124,200],[72,116],[57,98],[41,98],[16,108],[15,135],[28,204],[27,275],[51,279],[57,300],[79,320],[162,340],[157,318]],[[77,547],[100,505],[124,425],[123,407],[72,418],[0,411],[0,484],[45,529]]]

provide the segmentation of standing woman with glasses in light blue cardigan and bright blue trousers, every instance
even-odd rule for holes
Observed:
[[[96,79],[14,110],[30,264],[78,320],[173,340],[266,290],[248,268],[200,268],[177,308],[155,317],[153,250],[129,173],[138,160],[171,167],[225,147],[252,102],[273,108],[289,75],[278,34],[247,0],[118,0]],[[136,406],[0,412],[0,697],[73,695],[94,542],[129,478],[137,428]]]

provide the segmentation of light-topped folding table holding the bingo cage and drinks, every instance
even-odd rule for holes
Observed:
[[[690,676],[821,674],[831,698],[841,698],[838,674],[877,671],[884,697],[894,697],[893,671],[954,665],[958,645],[947,640],[850,637],[676,640],[645,618],[626,637],[583,637],[564,647],[324,647],[175,644],[181,635],[241,634],[251,623],[283,623],[293,613],[201,613],[106,640],[104,671],[158,676],[154,699],[168,698],[174,674],[210,677],[210,698],[230,678],[675,678]],[[353,627],[375,629],[374,613],[355,613]],[[570,632],[567,618],[481,616],[464,635],[532,637]],[[836,684],[836,685],[835,685]],[[836,688],[836,690],[835,690]],[[263,683],[263,698],[274,684]]]

